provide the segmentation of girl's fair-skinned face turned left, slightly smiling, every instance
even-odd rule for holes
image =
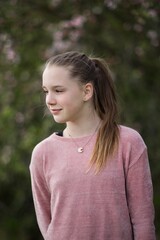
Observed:
[[[84,86],[66,67],[48,66],[43,72],[46,105],[58,123],[79,121],[84,114]]]

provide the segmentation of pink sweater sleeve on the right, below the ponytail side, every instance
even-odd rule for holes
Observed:
[[[126,189],[134,240],[155,240],[151,173],[147,148],[140,136],[131,149]]]

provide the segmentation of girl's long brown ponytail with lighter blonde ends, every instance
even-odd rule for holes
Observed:
[[[103,59],[91,58],[95,65],[94,96],[95,109],[102,120],[96,144],[90,159],[98,173],[118,147],[119,128],[115,86],[107,63]]]

